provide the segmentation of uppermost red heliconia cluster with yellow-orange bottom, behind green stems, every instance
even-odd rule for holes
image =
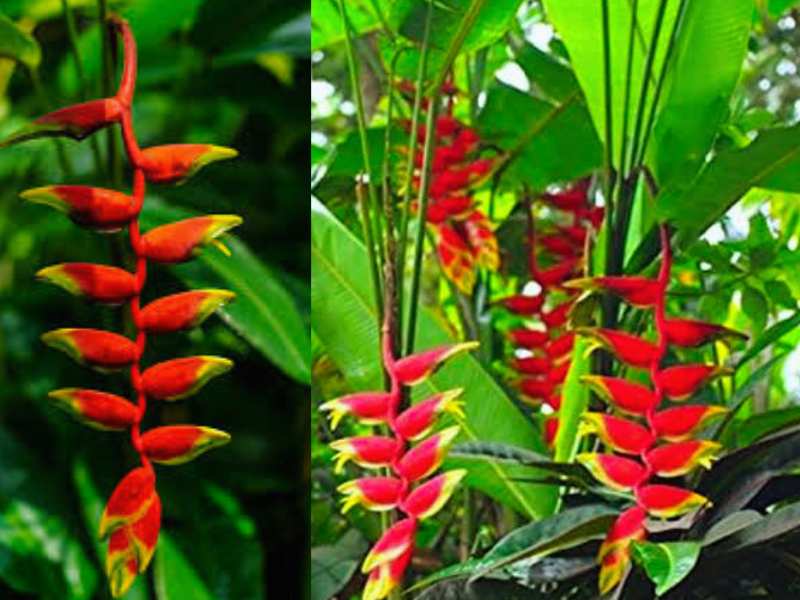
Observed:
[[[413,96],[413,84],[403,82],[400,89]],[[447,114],[437,117],[433,132],[436,139],[425,220],[434,234],[442,271],[459,290],[469,294],[475,286],[478,267],[495,271],[500,264],[494,230],[487,216],[475,207],[470,191],[489,175],[492,160],[478,156],[478,134],[452,115],[458,91],[450,84],[445,84],[442,91]],[[424,103],[422,111],[429,108]],[[404,125],[410,127],[408,121]],[[420,125],[414,150],[416,172],[412,178],[417,190],[426,134],[425,126]]]

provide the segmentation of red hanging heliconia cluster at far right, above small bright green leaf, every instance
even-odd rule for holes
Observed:
[[[662,407],[662,403],[683,403],[703,385],[730,371],[714,364],[664,365],[670,348],[698,348],[722,338],[743,337],[719,325],[667,317],[672,257],[669,234],[663,226],[661,246],[661,267],[656,279],[609,276],[568,283],[578,289],[613,294],[633,307],[652,311],[656,332],[656,340],[648,341],[624,331],[576,329],[593,345],[609,351],[625,368],[646,370],[650,383],[604,375],[584,377],[615,414],[584,415],[583,433],[596,434],[607,452],[579,454],[577,458],[604,485],[632,492],[635,502],[617,518],[600,547],[601,593],[612,590],[621,580],[630,563],[631,542],[646,537],[648,516],[671,518],[709,504],[708,499],[691,490],[654,478],[681,477],[698,466],[708,468],[720,445],[696,436],[725,409],[703,404]]]

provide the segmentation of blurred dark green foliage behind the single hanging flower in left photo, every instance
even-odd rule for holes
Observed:
[[[145,301],[187,286],[229,288],[238,298],[202,329],[151,338],[146,364],[217,354],[236,367],[188,400],[151,403],[145,425],[208,425],[233,440],[188,465],[158,468],[162,538],[148,574],[126,597],[301,598],[308,566],[309,3],[131,0],[108,9],[129,19],[139,44],[134,120],[142,146],[211,142],[240,153],[184,186],[150,187],[145,228],[191,213],[245,220],[226,241],[232,257],[210,248],[190,264],[149,272]],[[22,62],[7,58],[8,29],[0,27],[0,139],[47,110],[101,95],[99,11],[95,0],[0,0],[11,21],[0,25],[30,32],[41,49],[40,62],[35,52]],[[118,74],[111,75],[116,85]],[[77,368],[39,336],[64,326],[124,331],[126,318],[119,308],[87,305],[38,283],[34,273],[67,261],[124,263],[127,240],[79,229],[18,193],[55,183],[130,189],[124,159],[120,171],[113,168],[118,148],[100,132],[81,143],[0,149],[2,598],[109,597],[95,532],[135,457],[125,434],[83,427],[46,394],[69,386],[127,394],[126,378]]]

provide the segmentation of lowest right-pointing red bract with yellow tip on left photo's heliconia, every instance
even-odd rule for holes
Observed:
[[[142,434],[142,448],[153,462],[182,465],[212,448],[227,444],[231,436],[219,429],[198,425],[167,425]]]

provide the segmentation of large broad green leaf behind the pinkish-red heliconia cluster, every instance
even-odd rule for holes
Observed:
[[[311,304],[314,331],[353,390],[383,387],[378,329],[364,246],[318,201],[311,204]],[[439,317],[427,308],[419,316],[417,348],[452,343]],[[539,433],[472,356],[448,364],[417,394],[464,388],[470,440],[502,441],[543,450]],[[458,459],[448,461],[456,465]],[[513,481],[530,469],[487,463],[469,465],[465,480],[529,518],[548,514],[555,489]]]

